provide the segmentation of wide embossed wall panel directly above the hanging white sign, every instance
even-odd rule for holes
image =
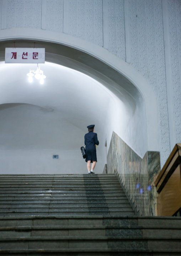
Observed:
[[[7,0],[7,29],[41,29],[41,3],[42,0]]]

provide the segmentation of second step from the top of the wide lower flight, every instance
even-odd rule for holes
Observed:
[[[31,236],[119,236],[119,237],[165,237],[181,239],[179,227],[164,228],[159,226],[141,227],[141,226],[20,226],[20,227],[1,227],[0,237],[31,237]]]

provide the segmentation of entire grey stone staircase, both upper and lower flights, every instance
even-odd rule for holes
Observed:
[[[138,217],[115,175],[0,175],[0,255],[181,255],[181,218]]]

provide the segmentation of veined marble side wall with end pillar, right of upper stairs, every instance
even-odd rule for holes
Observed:
[[[142,159],[113,132],[107,155],[108,173],[118,174],[125,193],[143,216],[157,214],[153,182],[160,172],[159,160],[159,152],[146,152]]]

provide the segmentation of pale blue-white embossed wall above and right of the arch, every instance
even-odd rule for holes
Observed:
[[[35,34],[38,29],[63,32],[108,49],[139,71],[157,98],[164,165],[181,140],[179,0],[0,0],[0,8],[1,31],[31,27]]]

